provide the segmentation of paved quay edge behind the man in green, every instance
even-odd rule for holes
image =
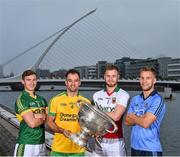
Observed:
[[[0,104],[0,156],[13,155],[16,138],[19,132],[18,128],[19,121],[14,113],[6,106]],[[47,154],[49,154],[53,134],[45,131],[45,136]]]

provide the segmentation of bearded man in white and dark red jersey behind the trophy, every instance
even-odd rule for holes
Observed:
[[[118,126],[116,133],[103,136],[101,145],[95,143],[93,156],[126,156],[122,131],[122,117],[126,110],[129,94],[118,86],[119,69],[108,64],[105,68],[104,79],[106,88],[93,95],[93,103],[104,111]]]

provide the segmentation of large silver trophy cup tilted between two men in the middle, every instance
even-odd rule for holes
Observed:
[[[93,136],[102,137],[106,133],[115,133],[118,130],[115,122],[95,106],[85,101],[78,101],[80,111],[78,113],[78,121],[81,131],[70,134],[69,138],[76,144],[89,150],[88,139]]]

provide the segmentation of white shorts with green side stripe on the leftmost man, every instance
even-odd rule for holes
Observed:
[[[14,156],[46,156],[45,144],[16,144]]]

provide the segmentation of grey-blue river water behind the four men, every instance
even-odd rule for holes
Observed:
[[[42,95],[49,99],[59,93],[60,91],[38,91],[39,95]],[[91,99],[91,91],[82,91],[84,96]],[[139,91],[129,91],[130,96],[138,94]],[[163,95],[163,93],[160,93]],[[163,147],[163,155],[165,156],[180,156],[180,92],[175,92],[175,100],[165,100],[167,106],[167,112],[161,125],[161,143]],[[14,110],[14,102],[19,92],[17,91],[0,91],[0,104]],[[126,141],[126,148],[128,155],[130,155],[130,131],[131,127],[124,126],[124,137]]]

